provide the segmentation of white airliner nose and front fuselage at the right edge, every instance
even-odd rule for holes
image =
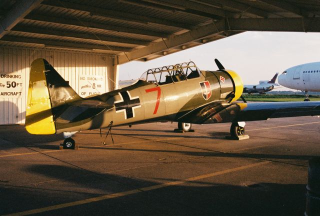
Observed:
[[[303,91],[304,101],[308,101],[308,91],[320,91],[320,62],[290,67],[278,76],[278,83],[284,87]]]

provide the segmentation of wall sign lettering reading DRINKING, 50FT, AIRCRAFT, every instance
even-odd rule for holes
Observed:
[[[24,76],[21,73],[0,73],[0,98],[20,98],[23,95]]]

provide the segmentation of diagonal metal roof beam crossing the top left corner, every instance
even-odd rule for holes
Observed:
[[[0,38],[16,25],[26,14],[38,6],[42,0],[19,0],[0,20]]]

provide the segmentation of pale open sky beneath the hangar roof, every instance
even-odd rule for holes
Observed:
[[[136,79],[149,68],[189,60],[201,70],[216,70],[214,58],[237,72],[244,84],[257,84],[291,66],[320,61],[320,33],[246,31],[146,62],[121,64],[119,80]]]

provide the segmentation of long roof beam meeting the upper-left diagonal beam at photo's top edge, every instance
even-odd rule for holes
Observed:
[[[123,11],[110,10],[106,8],[98,8],[90,5],[76,4],[76,3],[70,3],[65,1],[43,1],[42,4],[55,6],[55,7],[62,7],[67,9],[86,11],[92,15],[98,15],[98,16],[103,16],[103,17],[108,17],[108,18],[113,18],[118,20],[126,20],[130,22],[143,23],[143,24],[155,23],[155,24],[174,26],[174,27],[188,29],[188,30],[195,27],[195,26],[190,26],[188,24],[179,23],[173,20],[166,20],[162,18],[144,16],[144,15],[128,13]]]

